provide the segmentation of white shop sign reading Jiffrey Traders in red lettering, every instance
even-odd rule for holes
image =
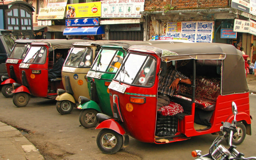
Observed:
[[[101,0],[101,18],[141,18],[145,0]]]

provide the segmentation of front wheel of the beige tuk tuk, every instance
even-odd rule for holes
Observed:
[[[66,115],[72,112],[75,105],[76,104],[72,103],[69,100],[61,100],[57,101],[56,108],[60,114]]]

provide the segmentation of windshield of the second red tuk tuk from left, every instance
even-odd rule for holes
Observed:
[[[46,51],[46,47],[31,46],[28,50],[28,53],[22,60],[22,63],[44,64],[46,58]]]

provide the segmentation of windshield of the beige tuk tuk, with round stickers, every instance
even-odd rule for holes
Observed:
[[[68,54],[64,66],[90,68],[93,60],[92,48],[74,47]]]

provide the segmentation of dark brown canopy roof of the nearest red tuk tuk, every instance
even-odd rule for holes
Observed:
[[[231,44],[176,43],[131,46],[130,51],[153,51],[162,61],[222,60],[221,95],[249,92],[242,52]]]

